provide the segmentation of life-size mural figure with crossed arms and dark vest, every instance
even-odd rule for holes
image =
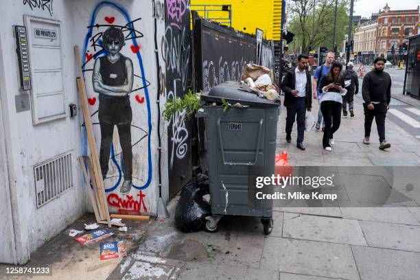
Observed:
[[[93,90],[100,93],[98,117],[102,177],[106,178],[108,173],[114,126],[117,126],[124,163],[124,182],[120,191],[128,194],[132,187],[132,110],[129,96],[133,84],[132,61],[119,53],[125,43],[124,34],[117,27],[109,27],[102,34],[102,42],[108,54],[96,58],[92,75]]]

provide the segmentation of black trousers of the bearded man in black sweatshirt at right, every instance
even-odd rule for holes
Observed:
[[[386,102],[379,104],[373,104],[375,107],[373,110],[369,110],[366,104],[363,104],[364,108],[364,137],[371,136],[372,121],[375,118],[377,134],[380,137],[380,142],[385,140],[385,117],[386,117]]]

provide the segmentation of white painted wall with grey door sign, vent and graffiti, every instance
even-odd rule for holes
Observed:
[[[161,2],[163,3],[163,0]],[[1,200],[5,201],[0,201],[0,218],[1,222],[5,224],[5,227],[0,230],[0,235],[6,237],[6,239],[11,239],[12,243],[14,242],[10,248],[2,248],[0,262],[17,264],[27,262],[30,259],[30,253],[79,218],[86,211],[89,202],[86,195],[86,186],[83,184],[82,174],[77,162],[77,156],[84,152],[83,136],[80,127],[82,124],[81,111],[79,110],[78,117],[76,118],[70,119],[67,116],[65,119],[51,121],[38,126],[32,125],[32,113],[30,110],[16,113],[14,95],[21,94],[21,91],[19,89],[19,66],[15,52],[16,43],[13,35],[13,25],[24,25],[23,15],[25,14],[61,21],[65,104],[66,108],[71,103],[79,105],[80,102],[78,102],[78,91],[75,83],[77,69],[75,67],[73,46],[78,45],[82,52],[84,37],[87,32],[86,27],[89,25],[89,20],[91,19],[95,6],[100,1],[54,0],[52,4],[54,6],[52,8],[47,6],[41,8],[30,7],[28,4],[30,1],[26,3],[26,5],[23,5],[23,1],[2,1],[2,9],[0,10],[0,19],[2,21],[2,25],[0,26],[0,106],[4,124],[3,128],[0,126],[1,135],[4,136],[3,140],[0,137],[0,143],[5,143],[4,145],[0,145],[5,153],[4,156],[0,157],[0,160],[3,161],[3,165],[1,166],[5,167],[7,165],[8,170],[8,176],[4,176],[5,171],[0,168],[0,193],[6,194],[6,196],[1,196]],[[133,148],[133,176],[136,177],[134,183],[137,186],[145,185],[150,177],[148,187],[141,190],[145,195],[144,202],[147,208],[147,211],[145,211],[141,207],[141,213],[156,215],[159,196],[158,131],[161,133],[162,140],[161,172],[163,179],[163,198],[165,201],[167,201],[168,197],[168,178],[167,130],[164,127],[165,121],[161,119],[159,129],[157,126],[158,104],[156,100],[159,94],[157,93],[157,82],[159,80],[157,78],[158,69],[156,69],[156,56],[154,52],[152,1],[121,0],[114,1],[113,3],[128,11],[131,19],[141,18],[140,21],[135,23],[136,29],[143,34],[143,37],[137,38],[137,43],[141,46],[139,52],[143,62],[144,76],[150,82],[150,86],[148,86],[147,92],[145,89],[136,91],[131,95],[130,101],[133,111],[133,124],[150,133],[150,144],[147,140],[143,140]],[[124,22],[124,16],[121,12],[110,6],[101,8],[97,13],[97,19],[102,21],[102,23],[104,23],[105,16],[115,16],[115,22]],[[161,37],[165,32],[163,17],[158,19],[157,29],[158,45],[160,48]],[[141,74],[137,54],[133,54],[130,50],[130,45],[127,44],[122,52],[124,55],[132,58],[135,64],[135,73],[143,75]],[[159,49],[159,54],[161,53],[162,51]],[[85,54],[81,55],[85,56]],[[159,58],[159,62],[162,69],[165,69],[161,57]],[[97,97],[97,94],[93,93],[90,81],[91,73],[86,72],[87,93],[89,97]],[[141,85],[140,79],[137,80],[137,84]],[[162,83],[162,86],[164,84],[165,82]],[[144,102],[137,102],[135,95],[139,95],[139,100],[145,97]],[[149,97],[149,102],[147,102],[146,95]],[[148,112],[147,104],[150,106],[150,112]],[[165,97],[161,95],[161,110],[163,110],[164,104]],[[97,109],[97,103],[95,106],[91,108],[92,113]],[[150,126],[148,122],[149,117]],[[96,120],[93,117],[93,121]],[[100,144],[99,133],[99,127],[95,127],[97,145]],[[132,141],[137,141],[139,137],[141,137],[141,133],[139,131],[133,133],[132,130]],[[116,152],[119,152],[119,150],[120,148],[117,145]],[[67,151],[71,151],[73,154],[74,187],[69,191],[65,191],[58,199],[48,202],[43,207],[37,209],[33,166]],[[150,161],[148,160],[149,156]],[[111,172],[116,174],[115,167],[110,168]],[[3,182],[4,178],[9,178],[9,181]],[[115,180],[107,180],[106,188],[112,187],[114,184]],[[8,189],[10,189],[10,196]],[[127,199],[127,197],[119,194],[119,187],[113,192],[121,198]],[[130,195],[137,198],[137,194],[138,190],[133,188]],[[112,207],[111,210],[117,211],[116,208],[113,209]],[[12,215],[12,219],[10,215]],[[12,233],[12,229],[14,229],[14,238],[10,234],[8,235],[8,233]],[[16,255],[9,253],[13,251],[13,246],[16,248]]]

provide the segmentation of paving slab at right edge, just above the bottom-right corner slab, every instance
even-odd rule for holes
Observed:
[[[420,226],[369,221],[360,226],[371,247],[420,252]]]

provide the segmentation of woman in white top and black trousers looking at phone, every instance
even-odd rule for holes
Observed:
[[[331,69],[321,80],[320,89],[323,91],[320,108],[325,120],[323,148],[331,151],[331,145],[334,145],[334,132],[340,127],[342,95],[347,93],[340,63],[334,62],[331,65]]]

